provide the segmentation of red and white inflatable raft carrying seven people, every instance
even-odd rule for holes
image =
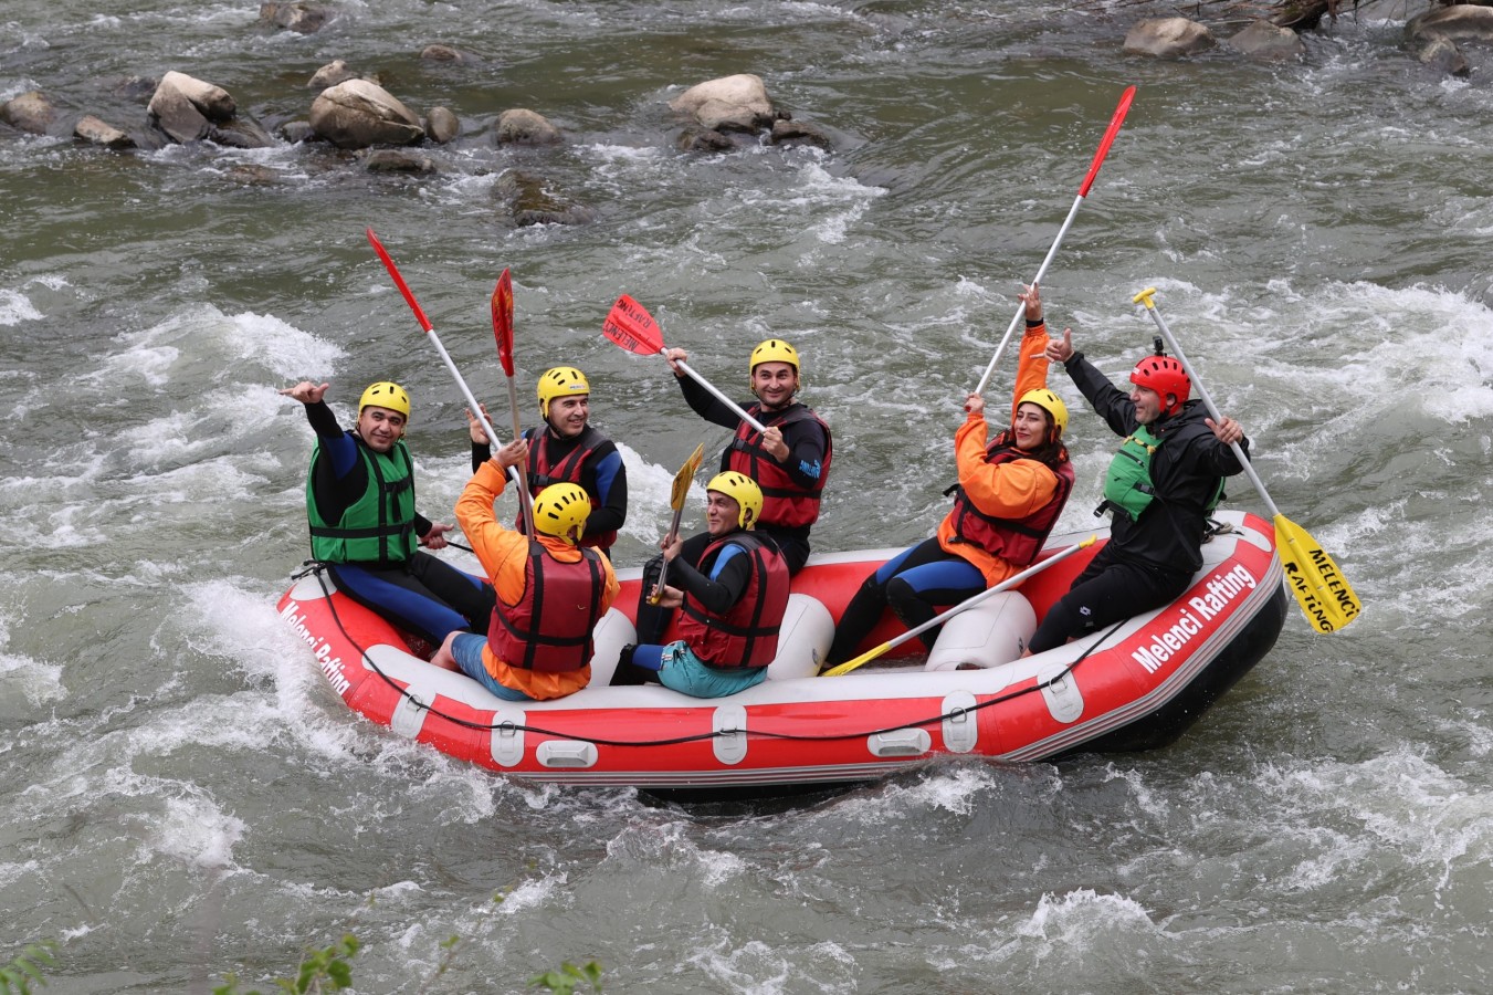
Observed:
[[[618,650],[636,641],[638,569],[618,571],[591,686],[546,702],[506,702],[431,666],[324,572],[300,578],[279,611],[349,708],[451,756],[530,781],[760,793],[875,780],[945,754],[1048,760],[1175,741],[1271,650],[1285,617],[1271,523],[1218,520],[1226,530],[1203,547],[1193,586],[1160,611],[1018,659],[1099,542],[951,619],[926,663],[909,659],[924,654],[912,639],[842,677],[815,677],[835,619],[896,550],[815,556],[794,578],[769,680],[712,701],[608,686]],[[1084,538],[1054,536],[1048,550]],[[863,648],[899,632],[885,619]]]

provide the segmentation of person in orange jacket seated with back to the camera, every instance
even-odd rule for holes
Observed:
[[[506,701],[573,695],[591,680],[591,632],[621,589],[605,553],[582,547],[591,499],[579,484],[534,497],[534,536],[493,512],[511,466],[527,463],[514,439],[482,463],[457,499],[457,523],[497,589],[487,635],[452,632],[430,660],[461,671]]]

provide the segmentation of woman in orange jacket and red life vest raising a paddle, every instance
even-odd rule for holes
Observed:
[[[1047,388],[1047,324],[1033,284],[1026,302],[1026,335],[1017,360],[1011,427],[987,444],[985,402],[970,394],[966,418],[954,433],[959,483],[945,493],[954,506],[938,535],[891,557],[855,592],[830,645],[826,666],[855,656],[860,642],[891,611],[909,629],[941,608],[994,587],[1029,566],[1063,514],[1073,490],[1073,465],[1063,445],[1067,406]],[[933,627],[918,638],[933,648]]]

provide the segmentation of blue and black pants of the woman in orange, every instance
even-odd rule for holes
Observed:
[[[985,575],[961,556],[947,553],[938,536],[924,539],[891,557],[867,577],[845,607],[835,627],[827,663],[844,663],[855,656],[857,647],[881,622],[890,605],[902,624],[912,629],[939,613],[985,590]],[[938,629],[918,636],[933,648]]]

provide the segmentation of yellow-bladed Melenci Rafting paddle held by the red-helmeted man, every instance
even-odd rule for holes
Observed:
[[[1193,381],[1193,387],[1197,390],[1197,396],[1202,397],[1203,403],[1208,405],[1208,414],[1212,415],[1215,423],[1223,421],[1223,415],[1218,414],[1218,405],[1214,403],[1212,397],[1208,396],[1208,388],[1203,387],[1202,379],[1197,378],[1197,371],[1193,365],[1187,362],[1182,354],[1182,348],[1176,344],[1176,338],[1172,330],[1166,327],[1166,321],[1162,318],[1162,312],[1156,309],[1156,287],[1147,287],[1138,293],[1132,300],[1138,305],[1145,305],[1147,312],[1150,312],[1151,320],[1156,321],[1156,327],[1162,332],[1162,338],[1166,339],[1166,345],[1176,356],[1176,360],[1187,371],[1187,378]],[[1238,442],[1230,442],[1229,448],[1233,450],[1235,459],[1244,466],[1245,475],[1254,489],[1260,492],[1260,499],[1265,506],[1275,517],[1275,548],[1281,554],[1281,566],[1285,569],[1285,580],[1296,595],[1296,602],[1302,607],[1302,614],[1306,616],[1306,622],[1312,624],[1317,632],[1336,632],[1342,626],[1348,624],[1359,617],[1363,611],[1359,596],[1353,593],[1353,587],[1348,586],[1348,578],[1342,575],[1338,565],[1321,548],[1321,544],[1311,536],[1306,529],[1300,527],[1290,518],[1281,514],[1281,509],[1275,506],[1271,496],[1265,490],[1265,484],[1260,481],[1260,475],[1254,472],[1254,466],[1250,459],[1239,448]]]

